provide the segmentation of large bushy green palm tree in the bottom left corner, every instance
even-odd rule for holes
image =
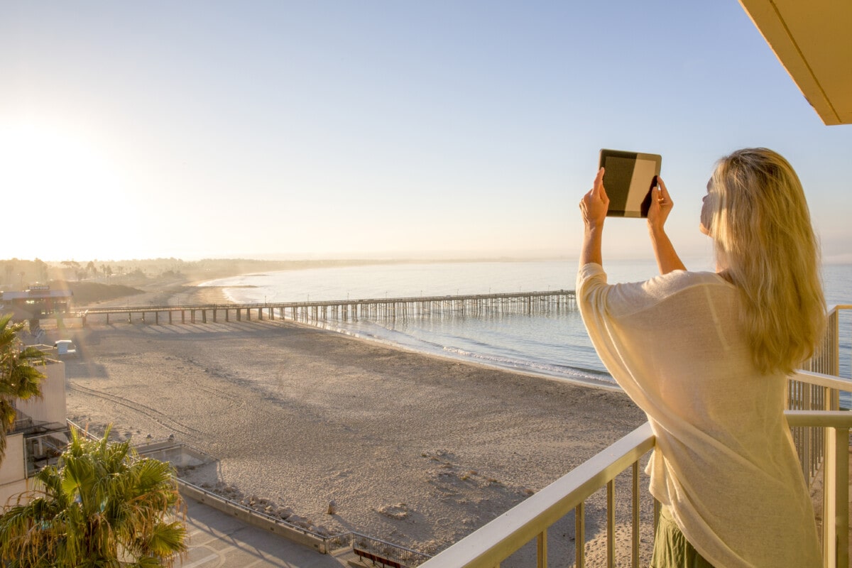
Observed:
[[[37,473],[32,501],[0,517],[6,566],[147,568],[171,566],[186,553],[174,469],[108,436],[109,428],[99,441],[72,429],[59,465]]]

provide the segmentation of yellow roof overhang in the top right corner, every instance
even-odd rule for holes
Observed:
[[[826,124],[852,124],[852,0],[740,0]]]

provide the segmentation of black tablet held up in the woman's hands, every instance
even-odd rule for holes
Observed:
[[[657,186],[663,157],[659,154],[601,150],[603,186],[609,198],[611,217],[648,217],[651,189]]]

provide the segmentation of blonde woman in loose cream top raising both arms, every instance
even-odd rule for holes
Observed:
[[[825,300],[802,185],[765,148],[722,158],[701,231],[716,273],[690,273],[665,234],[665,183],[648,213],[661,275],[607,284],[603,169],[580,202],[580,312],[607,370],[648,414],[650,491],[663,509],[653,568],[820,566],[814,511],[784,419],[786,377],[809,357]]]

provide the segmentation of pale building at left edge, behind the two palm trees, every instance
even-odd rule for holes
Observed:
[[[39,347],[49,356],[55,351]],[[0,510],[14,504],[19,495],[26,498],[33,489],[33,476],[55,464],[68,444],[65,364],[47,359],[39,370],[44,375],[42,398],[17,400],[14,427],[6,433],[6,453],[0,462]]]

